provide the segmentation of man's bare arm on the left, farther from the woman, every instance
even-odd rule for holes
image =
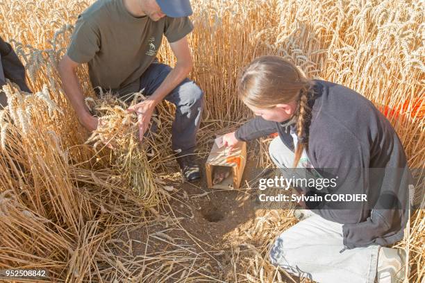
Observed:
[[[78,120],[85,128],[92,132],[97,128],[98,119],[90,114],[84,103],[83,90],[81,88],[80,81],[78,80],[78,76],[76,75],[76,68],[78,65],[79,64],[77,62],[74,62],[68,55],[65,54],[59,62],[58,71],[62,80],[65,95],[71,102]]]

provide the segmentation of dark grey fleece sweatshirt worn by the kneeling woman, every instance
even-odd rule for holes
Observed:
[[[346,248],[387,246],[403,239],[412,176],[397,133],[367,98],[342,85],[313,81],[307,155],[324,178],[338,176],[338,184],[320,191],[311,188],[307,195],[367,194],[367,202],[324,202],[309,208],[344,224]],[[291,130],[297,130],[294,123],[256,117],[237,130],[236,138],[248,141],[278,132],[294,151]]]

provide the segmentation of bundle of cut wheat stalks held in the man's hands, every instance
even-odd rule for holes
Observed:
[[[138,93],[130,106],[145,98]],[[153,170],[149,161],[151,153],[147,151],[155,146],[152,137],[138,140],[138,118],[128,112],[128,106],[112,94],[101,95],[101,98],[86,98],[86,105],[92,114],[99,117],[99,126],[86,141],[95,149],[110,144],[113,146],[113,166],[126,180],[128,187],[138,194],[147,207],[158,204],[158,188],[153,178]],[[158,118],[153,117],[158,120]],[[159,121],[159,120],[158,120]],[[152,123],[152,121],[151,121]]]

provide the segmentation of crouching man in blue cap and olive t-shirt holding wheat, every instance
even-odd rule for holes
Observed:
[[[128,108],[138,114],[140,141],[155,106],[164,98],[174,103],[172,149],[183,177],[192,181],[200,178],[193,153],[203,92],[187,78],[193,65],[186,38],[193,29],[189,15],[189,0],[99,0],[78,16],[58,67],[65,94],[89,131],[97,128],[99,120],[85,106],[76,76],[76,68],[85,62],[93,87],[110,89],[124,101],[131,101],[141,89],[149,96]],[[174,69],[156,60],[163,35],[177,59]]]

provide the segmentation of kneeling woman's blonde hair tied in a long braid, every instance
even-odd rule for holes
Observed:
[[[260,109],[272,109],[277,104],[297,101],[298,144],[293,166],[296,167],[303,149],[308,150],[310,128],[310,98],[313,97],[313,81],[296,65],[278,56],[261,56],[245,69],[238,83],[238,96],[247,105]]]

